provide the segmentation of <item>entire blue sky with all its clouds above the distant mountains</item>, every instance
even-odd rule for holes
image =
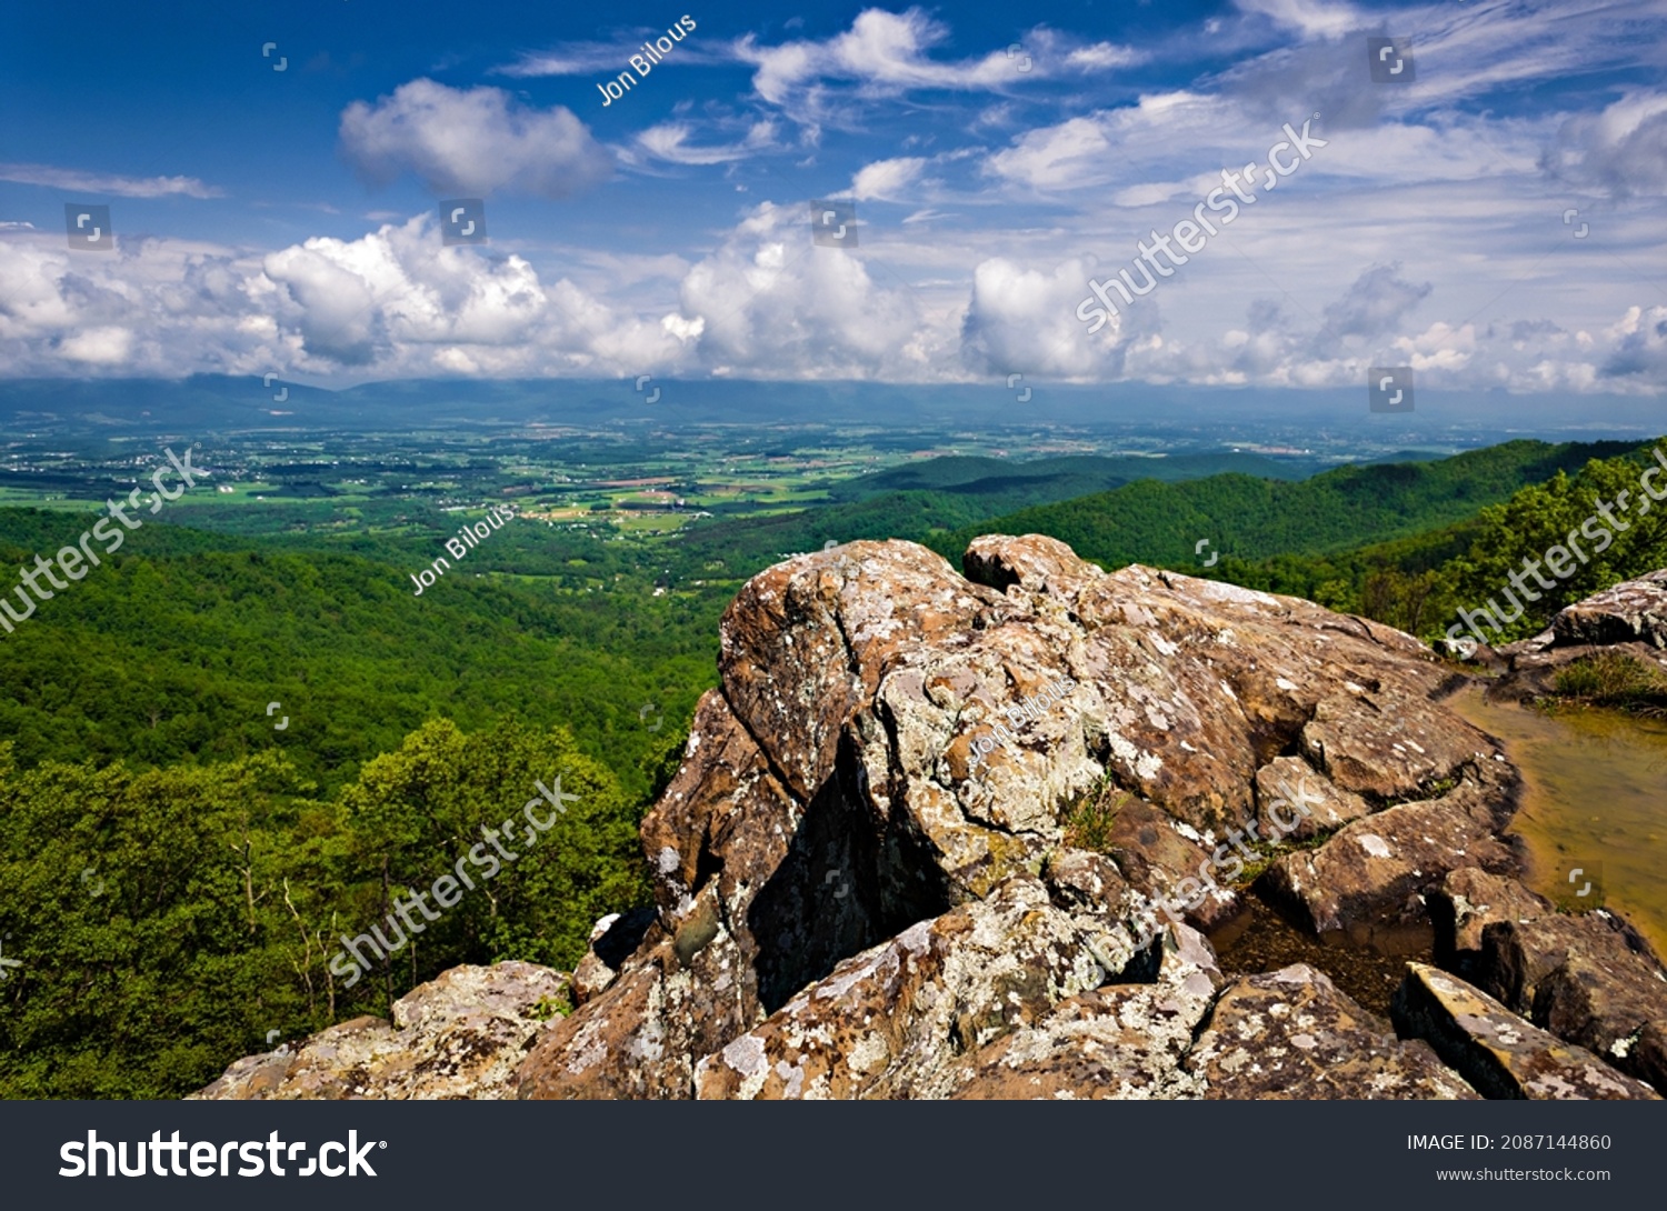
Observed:
[[[10,12],[0,375],[1667,383],[1667,0],[578,8]]]

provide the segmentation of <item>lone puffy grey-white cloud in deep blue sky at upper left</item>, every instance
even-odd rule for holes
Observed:
[[[412,80],[342,112],[342,152],[370,182],[415,173],[435,193],[515,190],[565,198],[605,180],[612,157],[573,112],[533,110],[502,88]]]

